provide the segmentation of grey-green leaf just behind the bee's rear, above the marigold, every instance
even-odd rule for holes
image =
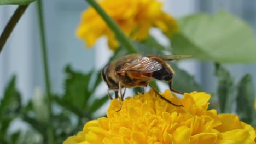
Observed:
[[[175,63],[170,63],[170,65],[175,71],[172,85],[174,89],[182,93],[202,91],[201,86],[195,81],[193,76],[187,73],[187,71],[179,69]]]

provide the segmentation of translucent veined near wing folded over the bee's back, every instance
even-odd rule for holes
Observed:
[[[125,63],[117,73],[152,73],[162,68],[162,65],[148,57],[132,59],[131,62]]]

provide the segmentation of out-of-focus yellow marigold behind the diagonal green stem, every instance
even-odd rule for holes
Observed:
[[[173,17],[162,11],[162,3],[156,0],[103,0],[98,2],[106,13],[117,22],[123,32],[133,40],[144,40],[151,27],[159,27],[171,36],[178,31]],[[92,46],[102,35],[108,38],[111,49],[118,47],[114,33],[93,8],[86,9],[77,28],[77,35],[87,46]]]

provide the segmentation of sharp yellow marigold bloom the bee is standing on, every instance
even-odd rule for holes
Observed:
[[[165,98],[176,107],[155,97],[153,91],[124,100],[121,111],[117,99],[111,101],[107,117],[89,121],[83,131],[64,144],[85,143],[254,143],[251,125],[234,114],[207,110],[210,95],[185,93],[179,100],[169,90]]]

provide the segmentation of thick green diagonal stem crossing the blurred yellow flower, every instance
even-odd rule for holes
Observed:
[[[107,23],[110,29],[115,33],[116,37],[121,44],[127,49],[129,53],[138,53],[135,46],[133,46],[131,40],[126,37],[126,35],[121,31],[117,23],[98,5],[95,0],[86,0],[91,7],[93,7],[97,13],[102,17],[102,19]]]

